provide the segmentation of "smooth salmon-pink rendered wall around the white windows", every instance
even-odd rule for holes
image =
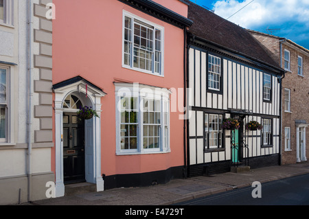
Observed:
[[[178,119],[178,112],[170,113],[171,153],[115,155],[113,84],[119,78],[157,87],[183,87],[183,30],[115,0],[88,0],[87,6],[82,0],[53,2],[53,84],[80,75],[108,94],[101,100],[102,174],[152,172],[183,165],[183,137],[179,137],[183,120]],[[122,10],[165,28],[164,77],[122,68]]]

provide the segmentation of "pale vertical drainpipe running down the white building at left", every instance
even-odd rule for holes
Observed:
[[[28,108],[27,108],[27,144],[28,144],[28,150],[27,150],[27,176],[28,176],[28,196],[27,201],[31,202],[32,200],[32,96],[33,96],[33,84],[32,84],[32,42],[33,42],[33,27],[32,27],[32,14],[33,14],[33,0],[29,0],[27,8],[28,8],[28,95],[29,95],[29,102],[28,102]]]

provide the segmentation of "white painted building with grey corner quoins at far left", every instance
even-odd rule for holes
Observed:
[[[54,181],[48,2],[0,0],[0,205],[46,198]]]

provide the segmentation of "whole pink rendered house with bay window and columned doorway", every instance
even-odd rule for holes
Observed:
[[[69,183],[102,191],[183,177],[187,3],[53,3],[56,196]],[[98,117],[80,120],[82,106]]]

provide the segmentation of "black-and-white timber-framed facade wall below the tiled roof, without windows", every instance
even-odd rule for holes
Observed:
[[[248,45],[250,46],[250,45]],[[221,60],[220,91],[208,89],[208,56]],[[271,76],[271,98],[263,98],[264,73]],[[188,176],[229,172],[232,165],[231,131],[222,130],[222,146],[207,148],[205,114],[242,117],[242,140],[252,168],[279,164],[282,71],[265,62],[247,58],[192,34],[187,35],[187,173]],[[248,131],[251,120],[271,119],[271,143],[264,146],[261,130]],[[244,150],[244,148],[242,149]]]

